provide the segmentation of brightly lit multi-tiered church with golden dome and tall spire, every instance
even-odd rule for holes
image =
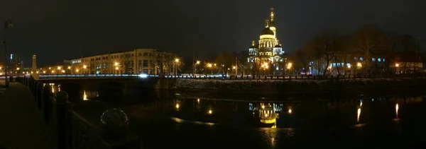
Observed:
[[[266,20],[258,43],[254,40],[249,48],[249,68],[251,70],[268,70],[274,75],[282,74],[285,70],[285,53],[277,39],[273,8],[271,17]]]

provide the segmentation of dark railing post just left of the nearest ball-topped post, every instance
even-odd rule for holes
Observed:
[[[66,127],[67,124],[67,107],[69,105],[68,102],[68,93],[61,90],[55,95],[55,106],[56,111],[54,113],[55,117],[55,136],[58,139],[56,143],[58,143],[58,148],[65,148],[66,147]]]

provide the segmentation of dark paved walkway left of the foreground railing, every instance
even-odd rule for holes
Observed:
[[[0,92],[3,88],[1,83]],[[48,148],[44,128],[30,90],[10,83],[9,89],[0,93],[0,148]]]

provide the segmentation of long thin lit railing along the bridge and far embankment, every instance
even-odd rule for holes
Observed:
[[[188,78],[188,79],[229,79],[229,80],[252,80],[252,79],[345,79],[345,78],[413,78],[421,77],[419,74],[398,74],[398,75],[334,75],[334,76],[279,76],[279,75],[259,75],[259,76],[222,76],[222,75],[204,75],[204,76],[158,76],[146,74],[63,74],[63,75],[40,75],[41,79],[58,78]]]

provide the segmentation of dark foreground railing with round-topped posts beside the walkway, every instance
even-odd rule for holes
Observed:
[[[43,113],[53,148],[141,148],[140,138],[129,131],[129,119],[119,109],[109,109],[96,126],[72,110],[65,91],[53,94],[49,84],[33,78],[17,77],[16,81],[28,86]]]

